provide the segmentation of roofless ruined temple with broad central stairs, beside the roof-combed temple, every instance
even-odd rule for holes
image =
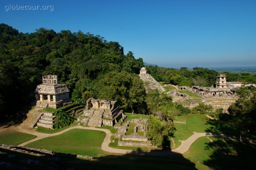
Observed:
[[[114,126],[123,116],[123,110],[120,111],[116,101],[90,98],[86,101],[84,114],[77,118],[77,122],[83,122],[84,126]]]

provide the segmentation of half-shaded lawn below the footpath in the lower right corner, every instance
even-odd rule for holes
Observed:
[[[255,144],[244,144],[228,138],[224,138],[224,140],[220,137],[210,138],[220,147],[221,152],[230,154],[237,152],[238,155],[224,155],[218,152],[207,137],[200,137],[183,156],[197,158],[200,163],[214,169],[255,169]]]

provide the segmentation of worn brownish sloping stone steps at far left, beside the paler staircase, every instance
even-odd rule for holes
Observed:
[[[41,115],[41,112],[39,112],[40,109],[42,108],[35,107],[34,109],[29,110],[29,112],[27,113],[27,119],[24,120],[20,125],[33,128]]]

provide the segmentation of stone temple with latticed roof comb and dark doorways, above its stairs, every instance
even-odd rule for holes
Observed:
[[[69,102],[69,90],[65,84],[58,84],[57,76],[43,76],[43,84],[36,87],[36,106],[59,108]]]

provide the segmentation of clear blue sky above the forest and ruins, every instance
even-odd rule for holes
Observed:
[[[99,34],[164,67],[256,66],[255,0],[1,0],[0,22]]]

